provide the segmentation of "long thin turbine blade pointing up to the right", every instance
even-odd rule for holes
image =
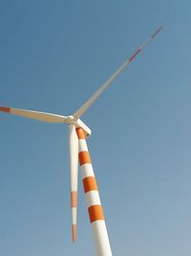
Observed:
[[[124,70],[124,68],[138,55],[138,53],[160,32],[162,27],[160,27],[156,32],[151,35],[147,41],[145,41],[141,46],[138,47],[138,50],[123,64],[117,69],[117,71],[107,80],[105,81],[101,87],[96,91],[96,93],[84,104],[82,105],[74,115],[79,118],[91,105],[94,104],[96,99],[100,96],[100,94],[119,76],[119,74]]]

